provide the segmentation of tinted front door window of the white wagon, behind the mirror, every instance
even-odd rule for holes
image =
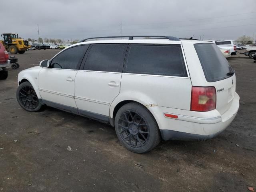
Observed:
[[[89,45],[69,48],[52,59],[51,68],[78,69]]]

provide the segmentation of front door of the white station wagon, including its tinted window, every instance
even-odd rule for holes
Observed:
[[[74,100],[74,80],[88,45],[74,46],[60,52],[43,68],[38,88],[43,102],[69,112],[77,112]]]

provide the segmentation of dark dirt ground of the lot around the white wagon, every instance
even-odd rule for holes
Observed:
[[[54,108],[36,113],[20,108],[18,72],[57,52],[17,54],[20,68],[0,81],[0,191],[246,192],[256,187],[252,59],[229,59],[240,109],[224,132],[204,142],[161,142],[152,152],[134,154],[121,146],[111,126]]]

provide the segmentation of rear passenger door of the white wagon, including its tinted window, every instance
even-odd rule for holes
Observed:
[[[109,116],[110,104],[118,96],[127,45],[93,44],[75,80],[78,112],[85,116]]]

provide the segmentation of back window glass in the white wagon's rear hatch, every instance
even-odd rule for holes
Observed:
[[[228,61],[215,44],[194,44],[198,58],[204,70],[204,76],[208,82],[215,82],[229,78],[227,73],[232,71]]]

